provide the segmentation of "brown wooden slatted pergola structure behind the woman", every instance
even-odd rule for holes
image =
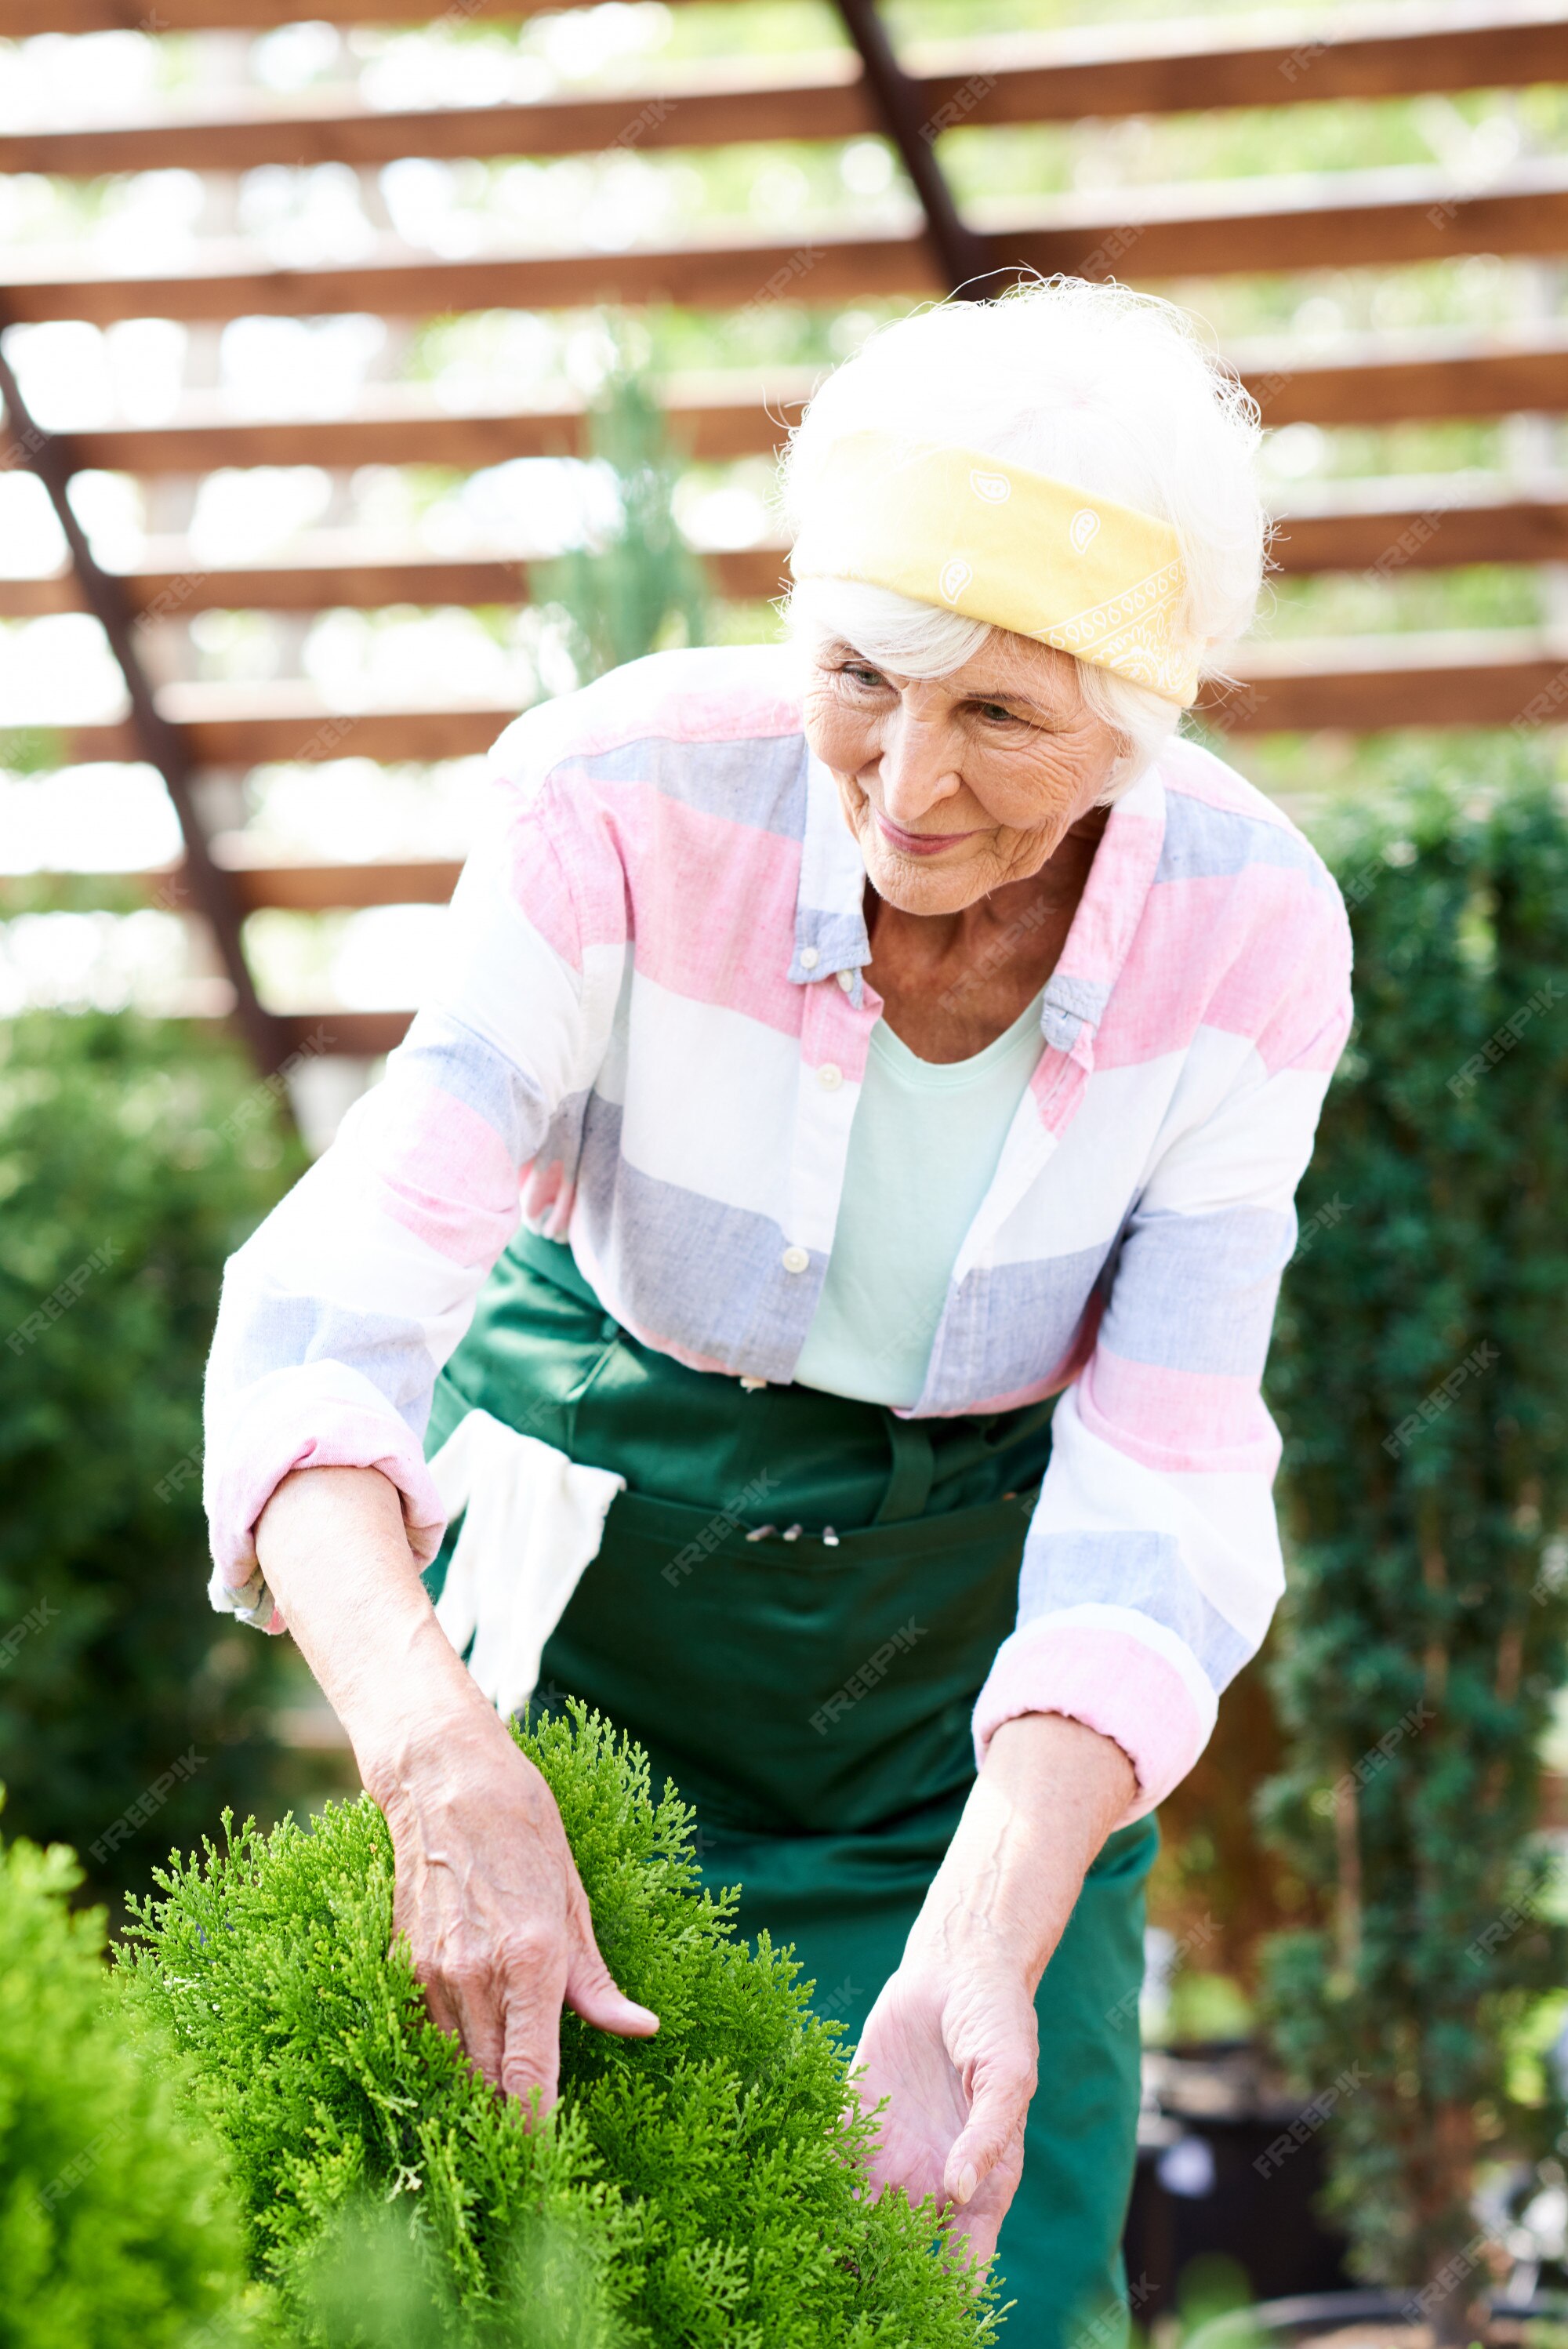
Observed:
[[[460,19],[507,21],[533,14],[538,5],[554,7],[559,0],[462,0]],[[425,23],[430,0],[338,0],[331,16],[340,26]],[[0,38],[117,26],[143,33],[256,31],[296,19],[291,0],[160,0],[155,12],[141,0],[0,0]],[[876,54],[866,54],[871,82],[845,42],[815,56],[685,63],[627,87],[505,106],[380,110],[350,85],[289,99],[246,92],[223,101],[171,101],[124,122],[0,132],[0,174],[235,174],[326,160],[373,171],[404,155],[655,153],[885,132],[901,139],[899,153],[913,183],[925,188],[925,146],[955,124],[986,132],[1568,80],[1568,7],[1561,0],[1340,5],[1305,19],[1089,26],[927,45],[906,56],[911,113],[901,132],[899,108],[878,80]],[[892,78],[897,85],[897,70]],[[930,188],[925,195],[930,221],[939,223],[941,204]],[[946,200],[941,186],[937,195]],[[960,228],[979,240],[976,258],[995,272],[995,287],[1030,270],[1169,284],[1397,270],[1474,254],[1559,258],[1568,251],[1568,157],[1523,153],[1505,169],[1265,171],[1216,183],[1009,197],[965,207]],[[427,319],[479,310],[582,310],[606,301],[723,315],[775,296],[822,310],[939,294],[946,284],[939,247],[951,277],[962,277],[965,270],[953,268],[953,237],[932,242],[927,216],[913,207],[901,214],[897,200],[859,226],[852,207],[822,223],[791,218],[786,228],[761,235],[749,218],[704,216],[688,235],[660,247],[606,251],[519,242],[469,258],[441,258],[380,240],[361,261],[298,268],[279,265],[265,242],[216,237],[153,251],[143,268],[124,275],[94,261],[85,242],[61,254],[16,244],[0,315],[7,324],[115,324],[136,317],[195,324],[345,312]],[[1357,336],[1333,345],[1282,338],[1237,348],[1230,357],[1268,425],[1376,428],[1568,411],[1568,322],[1556,319],[1493,331]],[[798,416],[815,378],[817,369],[784,366],[669,381],[671,442],[699,463],[768,453]],[[340,474],[364,465],[474,472],[519,456],[577,453],[584,428],[584,411],[570,399],[453,409],[418,385],[366,388],[347,416],[300,418],[249,418],[232,413],[218,395],[188,395],[162,423],[75,432],[68,456],[77,467],[148,479],[246,465],[319,465]],[[0,463],[14,463],[19,453],[26,451],[0,449]],[[1282,573],[1385,578],[1404,568],[1460,564],[1556,566],[1568,561],[1568,479],[1498,472],[1322,482],[1279,514],[1275,561]],[[709,557],[709,568],[725,597],[770,597],[779,587],[782,550],[723,552]],[[117,580],[124,601],[146,620],[185,620],[216,608],[516,606],[530,587],[528,564],[505,545],[434,554],[411,536],[361,526],[322,529],[275,559],[244,564],[204,561],[188,538],[150,538],[136,568]],[[73,608],[80,608],[75,578],[0,578],[0,618]],[[127,660],[134,669],[134,658]],[[1568,637],[1552,627],[1458,630],[1249,646],[1237,658],[1235,684],[1207,698],[1207,714],[1237,735],[1530,726],[1559,712],[1561,702],[1568,702]],[[195,766],[228,770],[336,756],[387,763],[458,759],[488,749],[514,714],[505,700],[460,695],[408,695],[399,707],[338,709],[303,679],[169,684],[157,695],[157,712],[176,728]],[[75,726],[68,728],[66,752],[73,759],[136,759],[138,740],[127,723]],[[200,827],[190,843],[200,895],[207,886],[200,879]],[[218,864],[223,890],[239,914],[434,904],[455,876],[446,857],[289,864],[265,850],[258,857],[246,841],[230,841]],[[157,888],[157,902],[178,902],[178,874],[146,881]],[[228,921],[237,937],[232,911]],[[235,954],[244,980],[244,954]],[[399,1012],[329,1012],[289,1019],[279,1034],[296,1043],[310,1036],[317,1050],[326,1038],[336,1050],[376,1052],[397,1041],[401,1027]]]

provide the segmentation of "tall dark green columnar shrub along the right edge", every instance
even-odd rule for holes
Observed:
[[[1265,1820],[1319,1905],[1270,1950],[1275,2032],[1303,2091],[1336,2086],[1361,2274],[1439,2342],[1469,2340],[1500,2264],[1476,2166],[1561,2142],[1512,2051],[1568,1961],[1535,1832],[1568,1630],[1568,817],[1516,742],[1476,756],[1333,843],[1357,1027],[1272,1367],[1289,1766]]]

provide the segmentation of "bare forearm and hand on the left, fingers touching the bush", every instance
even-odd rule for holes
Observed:
[[[561,2006],[624,2039],[660,2018],[610,1980],[556,1799],[437,1623],[376,1468],[296,1468],[256,1525],[268,1588],[392,1830],[392,1931],[430,2013],[540,2112]]]

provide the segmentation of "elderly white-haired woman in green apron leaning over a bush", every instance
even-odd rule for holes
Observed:
[[[1347,1029],[1319,860],[1176,740],[1253,449],[1120,289],[873,336],[789,451],[791,641],[500,738],[211,1367],[214,1595],[336,1705],[434,2018],[545,2098],[563,2004],[657,2030],[498,1717],[575,1691],[1030,2349],[1124,2321],[1153,1811],[1282,1583],[1258,1377]]]

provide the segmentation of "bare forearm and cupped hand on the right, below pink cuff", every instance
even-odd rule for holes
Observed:
[[[1122,1748],[1082,1722],[1002,1722],[904,1961],[866,2018],[852,2086],[866,2112],[887,2100],[871,2175],[951,2210],[974,2264],[995,2250],[1023,2173],[1035,1987],[1136,1788]]]

